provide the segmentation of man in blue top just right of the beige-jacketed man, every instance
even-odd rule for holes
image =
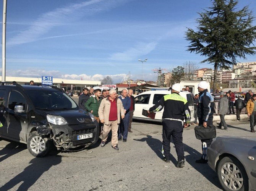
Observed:
[[[119,127],[118,127],[118,141],[122,140],[123,136],[123,142],[127,141],[128,136],[128,126],[129,126],[129,119],[130,119],[130,107],[131,107],[131,99],[127,96],[128,92],[126,89],[123,89],[121,92],[121,96],[118,98],[122,101],[123,108],[125,109],[125,118],[123,118],[120,121]]]

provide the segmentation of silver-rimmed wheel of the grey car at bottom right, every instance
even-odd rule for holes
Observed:
[[[245,168],[235,157],[221,159],[217,166],[217,174],[224,190],[248,190],[248,176]]]

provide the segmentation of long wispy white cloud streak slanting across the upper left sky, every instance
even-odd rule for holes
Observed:
[[[15,37],[7,41],[8,45],[24,44],[42,39],[42,35],[55,26],[64,25],[77,18],[93,15],[120,5],[126,0],[89,0],[71,4],[63,8],[42,14],[25,31],[19,32]]]

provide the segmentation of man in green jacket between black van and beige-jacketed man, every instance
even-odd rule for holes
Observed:
[[[100,107],[100,94],[101,90],[96,89],[94,95],[92,95],[87,102],[84,104],[84,107],[87,109],[88,112],[91,112],[94,115],[94,118],[98,123],[100,123],[100,118],[99,118],[99,107]]]

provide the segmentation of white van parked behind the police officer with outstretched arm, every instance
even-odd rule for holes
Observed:
[[[155,119],[151,119],[142,115],[142,110],[149,110],[153,105],[167,94],[171,94],[169,90],[155,90],[143,92],[135,97],[135,110],[133,113],[133,119],[149,120],[149,121],[162,121],[164,108],[160,112],[156,112]],[[191,123],[194,121],[194,100],[192,94],[188,91],[181,91],[179,93],[182,97],[188,100],[188,107],[190,109]]]

